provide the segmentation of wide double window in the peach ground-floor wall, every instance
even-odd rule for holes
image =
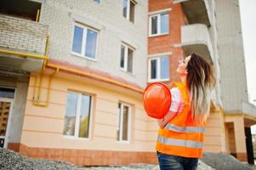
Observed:
[[[65,136],[88,139],[91,100],[90,95],[68,92],[63,130]]]

